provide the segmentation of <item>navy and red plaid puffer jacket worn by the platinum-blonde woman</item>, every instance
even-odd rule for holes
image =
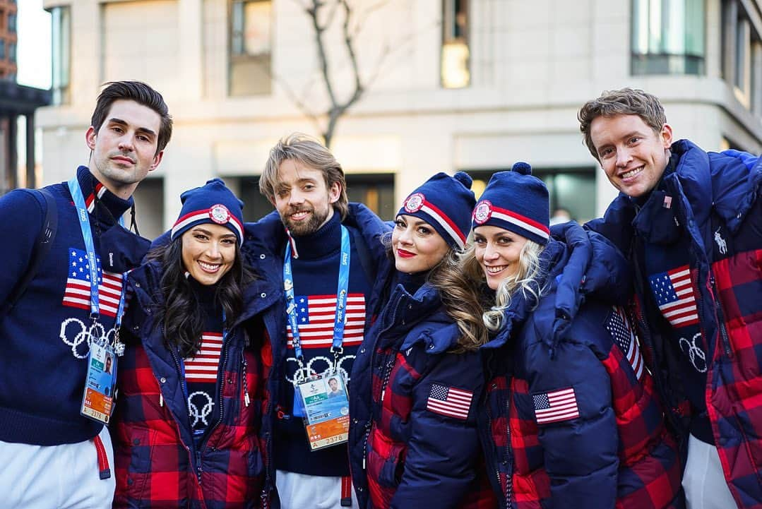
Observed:
[[[594,251],[587,302],[560,331],[556,305],[568,255],[549,242],[539,304],[514,294],[503,328],[482,347],[488,383],[479,429],[501,507],[684,507],[677,445],[626,313],[610,305],[613,293],[594,299],[601,280],[594,271],[609,283],[625,275],[606,252]],[[626,295],[629,285],[621,287]]]

